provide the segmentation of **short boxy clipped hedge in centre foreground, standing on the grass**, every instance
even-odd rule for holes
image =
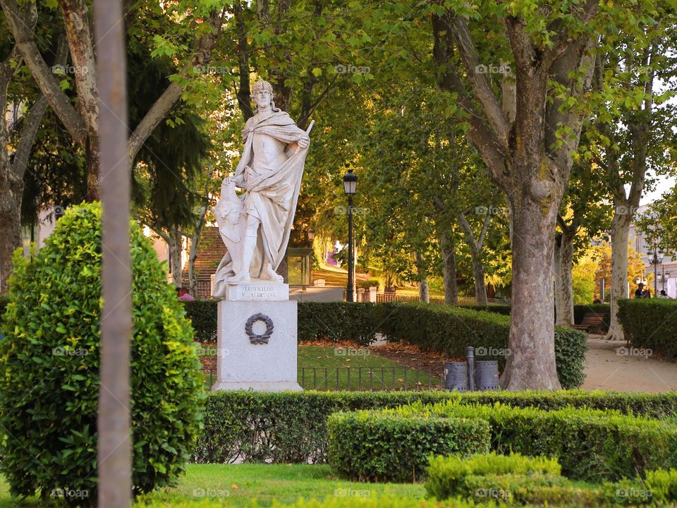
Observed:
[[[402,418],[379,411],[335,413],[327,421],[329,465],[341,478],[415,482],[431,454],[489,451],[489,423],[478,418]]]

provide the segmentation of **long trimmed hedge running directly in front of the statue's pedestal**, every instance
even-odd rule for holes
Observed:
[[[193,461],[225,463],[324,462],[327,459],[327,420],[331,413],[403,406],[415,401],[562,409],[567,404],[590,409],[671,418],[677,394],[621,392],[213,392],[204,408],[204,430]]]

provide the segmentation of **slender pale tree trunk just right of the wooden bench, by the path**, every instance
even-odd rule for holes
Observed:
[[[616,202],[616,200],[614,200]],[[632,215],[618,213],[623,207],[616,206],[611,221],[611,322],[605,339],[623,340],[623,327],[618,322],[618,300],[626,298],[628,291],[628,236]]]

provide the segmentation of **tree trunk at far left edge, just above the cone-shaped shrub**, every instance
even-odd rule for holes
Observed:
[[[21,246],[21,199],[23,180],[11,169],[0,169],[0,294],[7,292],[12,273],[12,254]]]

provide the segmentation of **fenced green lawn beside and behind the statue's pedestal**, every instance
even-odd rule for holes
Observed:
[[[337,369],[338,368],[338,369]],[[440,365],[441,369],[441,365]],[[338,375],[338,380],[337,380]],[[205,374],[205,388],[216,374]],[[441,387],[439,378],[405,367],[359,346],[299,346],[298,384],[304,389],[363,390]]]

